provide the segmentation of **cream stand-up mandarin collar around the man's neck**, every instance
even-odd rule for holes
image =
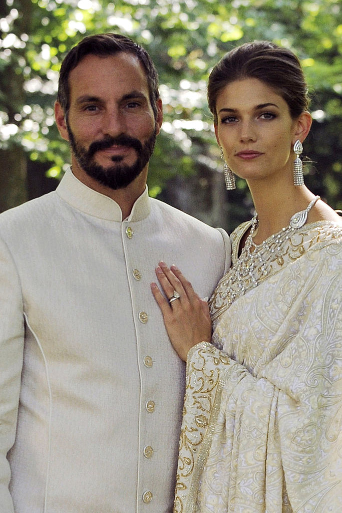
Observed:
[[[95,218],[107,221],[142,221],[150,213],[150,201],[146,186],[143,194],[135,201],[130,215],[123,220],[122,211],[116,201],[96,192],[72,173],[70,166],[56,188],[56,193],[69,205]]]

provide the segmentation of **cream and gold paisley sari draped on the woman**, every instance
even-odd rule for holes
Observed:
[[[304,226],[301,248],[244,293],[211,300],[214,345],[188,355],[175,513],[327,513],[342,504],[342,229]],[[298,249],[298,248],[297,248]],[[227,301],[229,304],[225,304]]]

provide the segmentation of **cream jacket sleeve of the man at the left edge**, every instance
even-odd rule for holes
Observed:
[[[14,444],[24,350],[21,285],[11,254],[0,240],[0,513],[13,513],[7,453]]]

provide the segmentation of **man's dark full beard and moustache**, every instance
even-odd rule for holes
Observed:
[[[72,152],[78,162],[78,165],[92,178],[97,180],[100,184],[110,187],[111,189],[123,189],[127,187],[133,180],[142,172],[146,164],[149,162],[153,153],[155,140],[156,140],[156,127],[154,127],[151,137],[142,144],[138,139],[133,139],[128,135],[119,135],[118,137],[106,137],[101,141],[94,141],[89,146],[88,150],[81,146],[76,140],[71,131],[69,123],[67,123],[69,134],[69,141]],[[127,146],[134,148],[137,153],[137,159],[131,166],[122,164],[122,156],[113,155],[112,161],[115,162],[114,166],[103,167],[93,159],[93,155],[113,145]]]

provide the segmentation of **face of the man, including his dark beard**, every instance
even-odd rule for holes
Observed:
[[[125,52],[87,55],[70,72],[69,89],[64,136],[73,170],[111,189],[127,187],[147,171],[161,124],[161,107],[155,120],[142,65]]]

